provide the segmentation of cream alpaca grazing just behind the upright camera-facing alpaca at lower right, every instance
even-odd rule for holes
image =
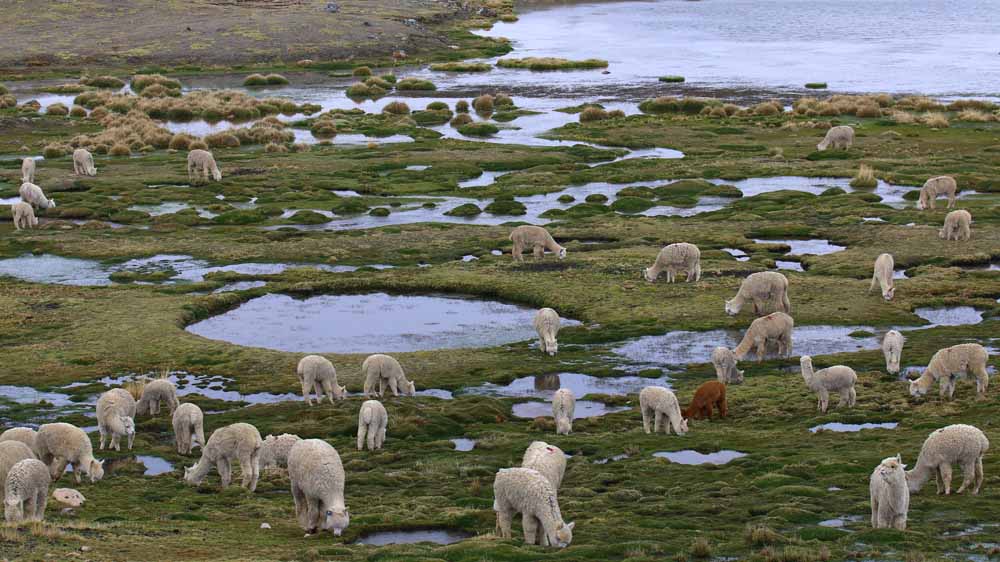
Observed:
[[[961,494],[970,485],[972,495],[978,495],[983,485],[983,456],[990,441],[979,428],[965,424],[949,425],[934,430],[917,457],[917,466],[906,473],[911,492],[919,492],[924,483],[934,478],[939,494],[951,494],[951,465],[962,467]]]

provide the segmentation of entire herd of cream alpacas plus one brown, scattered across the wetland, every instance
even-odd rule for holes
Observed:
[[[854,130],[838,126],[826,133],[817,148],[850,148],[853,142]],[[84,149],[76,150],[73,171],[82,176],[96,175],[93,156]],[[222,179],[213,155],[205,150],[190,151],[187,172],[192,182]],[[50,209],[56,205],[33,183],[35,179],[36,162],[25,158],[20,188],[22,201],[12,206],[18,230],[38,224],[35,209]],[[917,208],[934,209],[935,199],[944,195],[948,197],[950,209],[955,203],[956,191],[953,178],[931,178],[920,190]],[[965,210],[951,211],[945,218],[940,237],[968,240],[971,220]],[[542,259],[546,252],[559,259],[566,257],[566,248],[542,227],[518,226],[511,232],[510,240],[516,262],[523,261],[526,250],[536,259]],[[893,270],[893,256],[879,255],[869,292],[879,287],[882,297],[892,300],[895,295]],[[662,273],[666,274],[667,283],[673,283],[678,273],[685,275],[686,282],[699,282],[702,276],[700,249],[689,243],[667,245],[653,265],[642,271],[650,283]],[[760,362],[769,348],[776,349],[781,357],[792,354],[795,321],[791,316],[788,291],[788,279],[778,272],[758,272],[743,279],[737,294],[725,301],[724,310],[735,316],[749,305],[754,319],[733,349],[718,346],[712,351],[710,359],[717,380],[699,386],[686,408],[681,406],[672,390],[659,386],[643,388],[638,396],[642,430],[647,434],[662,430],[667,435],[672,430],[680,436],[690,431],[689,420],[711,419],[716,412],[721,418],[727,417],[730,406],[727,385],[744,382],[738,361],[754,354]],[[532,325],[538,333],[541,352],[556,355],[560,328],[556,310],[541,309]],[[896,330],[884,336],[882,351],[889,373],[899,372],[904,343],[905,338]],[[909,383],[909,392],[921,396],[937,381],[941,396],[951,399],[956,378],[971,374],[976,378],[977,397],[983,398],[988,385],[987,361],[987,350],[979,344],[965,343],[941,349],[934,354],[923,374]],[[819,411],[827,412],[831,394],[840,396],[839,407],[855,406],[858,375],[852,368],[834,365],[816,370],[808,355],[801,356],[800,367],[806,388],[817,397]],[[361,365],[361,375],[366,400],[358,415],[356,444],[359,451],[376,451],[385,446],[389,421],[389,412],[379,399],[387,390],[393,397],[414,396],[416,385],[407,378],[397,359],[384,354],[367,357]],[[336,405],[348,396],[346,386],[338,384],[333,363],[323,356],[303,357],[297,365],[296,377],[308,406],[313,405],[314,398],[319,405],[323,398]],[[552,413],[557,435],[571,434],[575,407],[576,398],[571,390],[559,388],[555,391]],[[307,534],[330,531],[340,536],[348,527],[350,514],[344,496],[345,471],[333,446],[320,439],[302,439],[292,434],[262,438],[257,428],[248,423],[217,428],[206,441],[203,412],[195,404],[182,404],[174,384],[167,379],[148,382],[138,397],[123,388],[110,389],[101,395],[96,404],[99,448],[103,450],[107,445],[119,451],[122,439],[126,439],[127,448],[131,450],[136,417],[157,416],[161,408],[171,415],[178,453],[190,455],[196,445],[201,448],[198,461],[184,470],[183,479],[187,483],[199,485],[214,468],[225,488],[232,480],[233,464],[238,462],[241,485],[253,492],[262,469],[286,468],[295,517]],[[906,471],[900,455],[884,459],[872,472],[869,482],[872,526],[905,529],[910,494],[919,491],[930,478],[935,479],[939,493],[950,494],[951,467],[956,463],[963,470],[963,482],[957,492],[968,489],[978,494],[984,478],[983,456],[988,447],[989,442],[979,429],[951,425],[931,433],[912,470]],[[4,495],[7,521],[43,519],[49,486],[63,475],[67,465],[73,467],[77,482],[82,477],[97,482],[104,476],[103,462],[94,457],[90,438],[76,426],[50,423],[42,425],[37,432],[14,428],[0,435],[0,490]],[[559,447],[535,441],[525,451],[521,467],[503,468],[496,473],[493,509],[501,537],[511,537],[513,516],[520,513],[525,543],[565,547],[572,542],[575,523],[564,521],[558,502],[565,470],[566,457]]]

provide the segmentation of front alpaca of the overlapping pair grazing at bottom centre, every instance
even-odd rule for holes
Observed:
[[[565,548],[573,541],[575,524],[563,522],[556,490],[537,470],[501,468],[493,481],[493,497],[501,537],[511,538],[511,520],[520,513],[525,543]]]

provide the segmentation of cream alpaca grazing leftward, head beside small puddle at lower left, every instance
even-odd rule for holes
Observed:
[[[232,481],[232,462],[239,460],[243,487],[252,492],[257,489],[260,478],[260,449],[263,444],[260,432],[248,423],[234,423],[216,429],[202,448],[198,463],[184,469],[184,480],[197,486],[214,465],[222,479],[222,487],[226,488]]]

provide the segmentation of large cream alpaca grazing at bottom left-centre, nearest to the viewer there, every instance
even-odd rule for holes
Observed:
[[[288,453],[295,516],[309,534],[331,531],[340,536],[351,522],[344,502],[344,465],[321,439],[303,439]]]

